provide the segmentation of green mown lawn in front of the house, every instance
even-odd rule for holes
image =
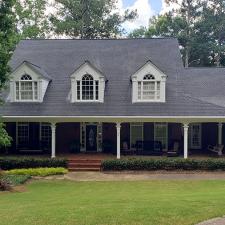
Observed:
[[[0,193],[1,225],[187,225],[225,215],[225,181],[35,181]]]

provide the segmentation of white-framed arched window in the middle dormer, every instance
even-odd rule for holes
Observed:
[[[81,81],[77,81],[77,100],[98,100],[99,81],[90,74],[85,74]]]

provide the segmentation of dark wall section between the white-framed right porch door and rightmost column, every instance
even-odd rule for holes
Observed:
[[[205,151],[208,145],[216,145],[218,142],[217,123],[202,124],[202,149]]]

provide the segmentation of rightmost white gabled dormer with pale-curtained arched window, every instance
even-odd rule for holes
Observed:
[[[166,74],[147,61],[135,74],[132,80],[132,102],[165,102]]]

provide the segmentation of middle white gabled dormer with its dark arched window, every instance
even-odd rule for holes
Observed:
[[[71,102],[104,102],[105,76],[89,61],[71,75]]]

